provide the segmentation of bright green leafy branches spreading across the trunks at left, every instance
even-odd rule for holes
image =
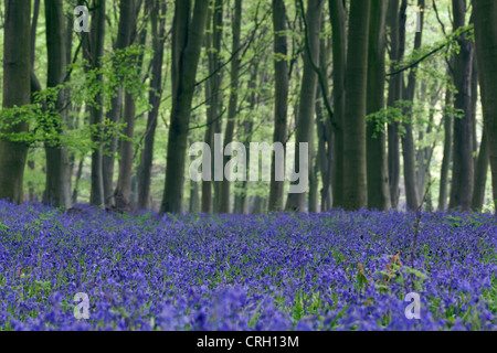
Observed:
[[[110,141],[114,137],[127,139],[120,131],[124,124],[116,124],[108,119],[103,122],[85,125],[82,128],[71,129],[63,115],[70,109],[65,95],[71,92],[71,104],[94,108],[110,108],[110,99],[117,93],[117,86],[123,85],[130,93],[138,105],[148,107],[145,93],[147,86],[142,82],[137,66],[145,47],[133,45],[123,51],[116,51],[103,58],[103,66],[89,69],[87,62],[70,65],[72,81],[56,87],[49,87],[33,94],[33,103],[22,107],[3,108],[0,110],[0,139],[20,142],[30,147],[65,146],[77,150],[82,154],[99,148],[99,142]],[[105,77],[104,82],[99,76]],[[98,107],[97,97],[102,96],[105,107]],[[60,106],[60,103],[65,105]],[[28,131],[19,129],[21,126],[30,127]],[[92,137],[94,140],[92,140]],[[108,153],[105,148],[104,153]]]

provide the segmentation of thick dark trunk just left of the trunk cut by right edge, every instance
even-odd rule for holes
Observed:
[[[454,30],[465,25],[466,1],[453,0]],[[458,44],[459,53],[454,60],[454,84],[456,87],[454,108],[464,111],[464,116],[454,120],[454,169],[450,208],[461,207],[469,211],[473,201],[475,171],[473,159],[473,118],[472,118],[472,71],[473,43],[463,34]]]

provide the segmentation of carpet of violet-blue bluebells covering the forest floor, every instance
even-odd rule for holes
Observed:
[[[490,214],[183,215],[0,202],[1,330],[495,330]],[[73,301],[89,298],[89,319]],[[421,318],[408,319],[410,292]]]

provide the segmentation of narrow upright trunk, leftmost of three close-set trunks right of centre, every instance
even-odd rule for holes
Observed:
[[[347,13],[345,1],[329,0],[329,11],[332,26],[335,107],[332,196],[334,206],[341,207],[343,205],[345,73],[347,66]]]

